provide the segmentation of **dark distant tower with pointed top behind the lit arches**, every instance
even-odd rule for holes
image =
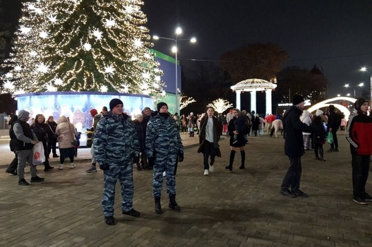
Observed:
[[[313,85],[313,103],[320,102],[327,98],[327,79],[324,78],[323,72],[314,65],[310,70],[310,80]]]

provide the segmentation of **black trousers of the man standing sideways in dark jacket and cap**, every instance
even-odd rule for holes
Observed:
[[[285,178],[282,182],[282,189],[291,188],[292,191],[298,191],[300,189],[301,180],[301,157],[289,157],[289,162],[291,166],[288,168]]]

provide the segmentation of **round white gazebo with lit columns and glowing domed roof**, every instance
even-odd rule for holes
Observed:
[[[240,109],[240,94],[241,92],[251,92],[251,111],[257,112],[256,107],[256,92],[265,91],[266,93],[266,114],[271,114],[271,92],[276,89],[276,80],[273,83],[262,79],[247,79],[242,80],[234,86],[230,87],[236,92],[236,108]]]

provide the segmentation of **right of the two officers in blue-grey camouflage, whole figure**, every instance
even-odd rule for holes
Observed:
[[[152,195],[155,199],[155,213],[163,213],[161,208],[161,189],[163,186],[163,171],[166,173],[169,208],[180,211],[176,203],[176,160],[183,161],[183,144],[176,121],[169,115],[167,104],[157,105],[158,114],[147,123],[145,149],[149,158],[154,158],[154,182]]]

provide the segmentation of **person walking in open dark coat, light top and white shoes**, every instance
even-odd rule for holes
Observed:
[[[199,149],[198,153],[204,155],[204,175],[209,175],[209,171],[214,171],[214,158],[221,157],[220,149],[218,148],[218,140],[220,140],[221,125],[220,121],[214,116],[214,108],[207,107],[207,114],[200,119],[199,133]],[[209,156],[211,163],[208,164]]]

